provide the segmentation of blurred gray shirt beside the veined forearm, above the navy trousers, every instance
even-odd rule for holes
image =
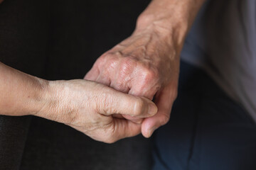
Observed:
[[[207,1],[181,57],[206,69],[256,121],[255,0]]]

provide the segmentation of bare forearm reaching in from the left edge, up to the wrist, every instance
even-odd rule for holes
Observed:
[[[0,62],[0,115],[33,115],[43,108],[48,81]]]

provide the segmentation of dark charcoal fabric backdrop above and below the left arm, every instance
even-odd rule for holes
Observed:
[[[131,35],[148,4],[5,0],[0,5],[0,61],[44,79],[82,79],[97,57]],[[2,167],[125,170],[149,169],[152,163],[151,142],[142,136],[107,145],[50,120],[8,119],[9,128],[1,132],[6,139],[0,142]]]

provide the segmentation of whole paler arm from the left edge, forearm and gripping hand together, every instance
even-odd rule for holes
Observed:
[[[75,79],[47,81],[0,62],[0,114],[36,115],[65,123],[94,140],[112,143],[140,133],[141,125],[113,118],[121,113],[141,118],[156,114],[155,104],[103,84]]]

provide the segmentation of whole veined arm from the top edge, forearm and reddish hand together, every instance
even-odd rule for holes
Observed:
[[[177,96],[179,54],[184,38],[204,0],[153,0],[137,19],[134,33],[100,56],[85,79],[97,81],[134,96],[144,96],[158,107],[142,123],[142,135],[169,121]]]

